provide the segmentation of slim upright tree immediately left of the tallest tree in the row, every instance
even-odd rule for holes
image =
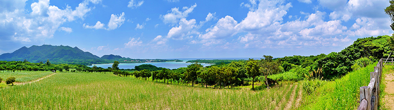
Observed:
[[[260,76],[260,66],[259,66],[259,62],[257,60],[254,59],[249,59],[248,63],[246,64],[246,70],[247,70],[247,74],[252,77],[252,89],[255,88],[255,78],[256,76]]]

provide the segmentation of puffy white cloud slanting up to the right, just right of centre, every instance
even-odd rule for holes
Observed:
[[[223,39],[231,37],[237,32],[235,25],[237,25],[237,21],[230,16],[226,16],[221,18],[213,27],[206,29],[206,33],[199,35],[198,38]]]

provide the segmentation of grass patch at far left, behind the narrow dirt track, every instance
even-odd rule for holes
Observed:
[[[15,71],[15,72],[0,72],[0,77],[5,80],[8,77],[15,77],[15,82],[29,82],[35,79],[52,74],[51,71]]]

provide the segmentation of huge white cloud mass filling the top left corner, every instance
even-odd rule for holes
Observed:
[[[16,42],[41,41],[52,38],[57,30],[70,32],[71,28],[61,28],[65,22],[84,19],[93,9],[90,3],[96,4],[101,0],[84,0],[73,10],[70,6],[59,9],[50,5],[49,0],[38,0],[30,7],[32,12],[26,13],[27,0],[0,1],[0,35],[4,40]]]

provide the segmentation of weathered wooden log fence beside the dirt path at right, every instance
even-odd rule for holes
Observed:
[[[370,72],[368,86],[360,87],[360,106],[357,110],[378,110],[383,60],[380,59],[374,71]]]

